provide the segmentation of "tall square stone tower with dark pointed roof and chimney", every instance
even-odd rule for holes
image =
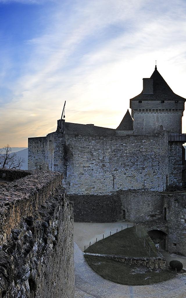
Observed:
[[[157,134],[165,130],[182,133],[185,98],[175,94],[163,77],[155,70],[143,79],[143,91],[130,99],[134,119],[134,134]]]

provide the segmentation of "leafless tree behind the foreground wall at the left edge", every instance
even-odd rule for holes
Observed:
[[[12,148],[7,144],[0,150],[0,168],[3,169],[20,169],[25,161],[24,158],[18,157],[16,153],[12,153]]]

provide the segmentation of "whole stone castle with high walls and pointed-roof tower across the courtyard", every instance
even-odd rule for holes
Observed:
[[[58,120],[56,132],[29,138],[28,168],[64,173],[76,221],[123,217],[152,231],[158,221],[165,248],[186,254],[185,193],[165,193],[169,184],[185,186],[184,103],[155,67],[130,99],[132,117],[127,111],[116,129],[65,122],[61,130]]]

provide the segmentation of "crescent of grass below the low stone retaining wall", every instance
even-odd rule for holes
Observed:
[[[89,266],[101,277],[122,285],[148,285],[174,278],[174,272],[168,270],[151,270],[144,266],[125,265],[103,257],[86,255]]]

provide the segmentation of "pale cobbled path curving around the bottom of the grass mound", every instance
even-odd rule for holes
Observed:
[[[74,249],[75,298],[186,298],[185,276],[153,285],[119,285],[96,274],[76,243]]]

